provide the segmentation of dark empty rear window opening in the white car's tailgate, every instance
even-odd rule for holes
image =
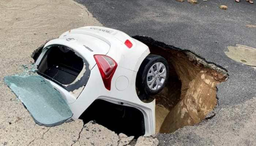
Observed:
[[[83,66],[83,59],[74,51],[58,45],[48,49],[38,66],[38,72],[60,84],[68,85],[75,81]]]

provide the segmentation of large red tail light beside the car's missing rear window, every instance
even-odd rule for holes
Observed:
[[[110,90],[111,80],[117,68],[116,61],[106,55],[94,55],[94,59],[98,65],[105,88]]]

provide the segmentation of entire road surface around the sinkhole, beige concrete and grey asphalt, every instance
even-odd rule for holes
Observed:
[[[72,0],[3,0],[0,4],[0,145],[119,144],[121,139],[114,132],[98,124],[87,125],[89,131],[97,129],[93,136],[81,120],[50,128],[35,124],[3,81],[4,76],[22,72],[23,64],[33,62],[31,53],[45,41],[88,25],[116,28],[131,36],[146,35],[191,50],[229,71],[229,79],[218,85],[215,116],[172,134],[158,134],[159,145],[256,145],[256,70],[224,53],[227,46],[236,44],[256,47],[256,28],[248,27],[256,25],[255,4],[225,0],[196,5],[174,0],[78,2],[83,5]],[[228,9],[219,9],[219,5]],[[100,139],[102,135],[108,136]],[[157,145],[158,141],[151,139],[145,143]]]

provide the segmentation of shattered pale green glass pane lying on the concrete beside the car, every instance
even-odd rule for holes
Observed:
[[[39,125],[56,126],[72,117],[61,94],[41,76],[6,76],[4,81]]]

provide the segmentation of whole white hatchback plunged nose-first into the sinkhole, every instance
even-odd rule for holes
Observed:
[[[87,26],[45,44],[35,65],[67,101],[74,119],[127,135],[155,134],[155,100],[167,61],[124,32]]]

